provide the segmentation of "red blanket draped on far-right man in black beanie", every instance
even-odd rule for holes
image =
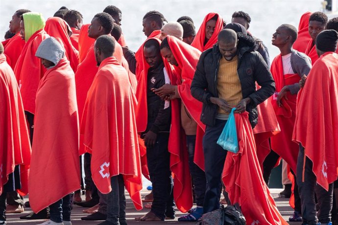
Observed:
[[[312,67],[297,104],[292,139],[313,161],[317,183],[328,190],[338,167],[338,55],[326,52]]]

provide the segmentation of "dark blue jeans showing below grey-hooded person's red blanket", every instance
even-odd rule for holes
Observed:
[[[55,223],[71,221],[71,194],[66,195],[56,203],[49,205],[50,220]]]

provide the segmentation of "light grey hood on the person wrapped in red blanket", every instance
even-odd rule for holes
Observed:
[[[56,66],[60,60],[65,57],[65,50],[55,38],[50,37],[41,42],[38,50],[36,50],[35,56],[46,59]],[[47,69],[55,66],[48,67]]]

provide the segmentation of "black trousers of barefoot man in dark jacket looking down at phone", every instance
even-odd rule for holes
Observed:
[[[146,149],[146,157],[152,183],[154,201],[151,211],[164,220],[173,217],[173,182],[170,171],[170,154],[168,151],[169,133],[158,133],[156,144]]]

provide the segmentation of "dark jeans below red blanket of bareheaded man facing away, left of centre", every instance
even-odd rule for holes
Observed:
[[[125,195],[122,175],[110,178],[112,191],[107,194],[107,221],[113,225],[126,225]]]

